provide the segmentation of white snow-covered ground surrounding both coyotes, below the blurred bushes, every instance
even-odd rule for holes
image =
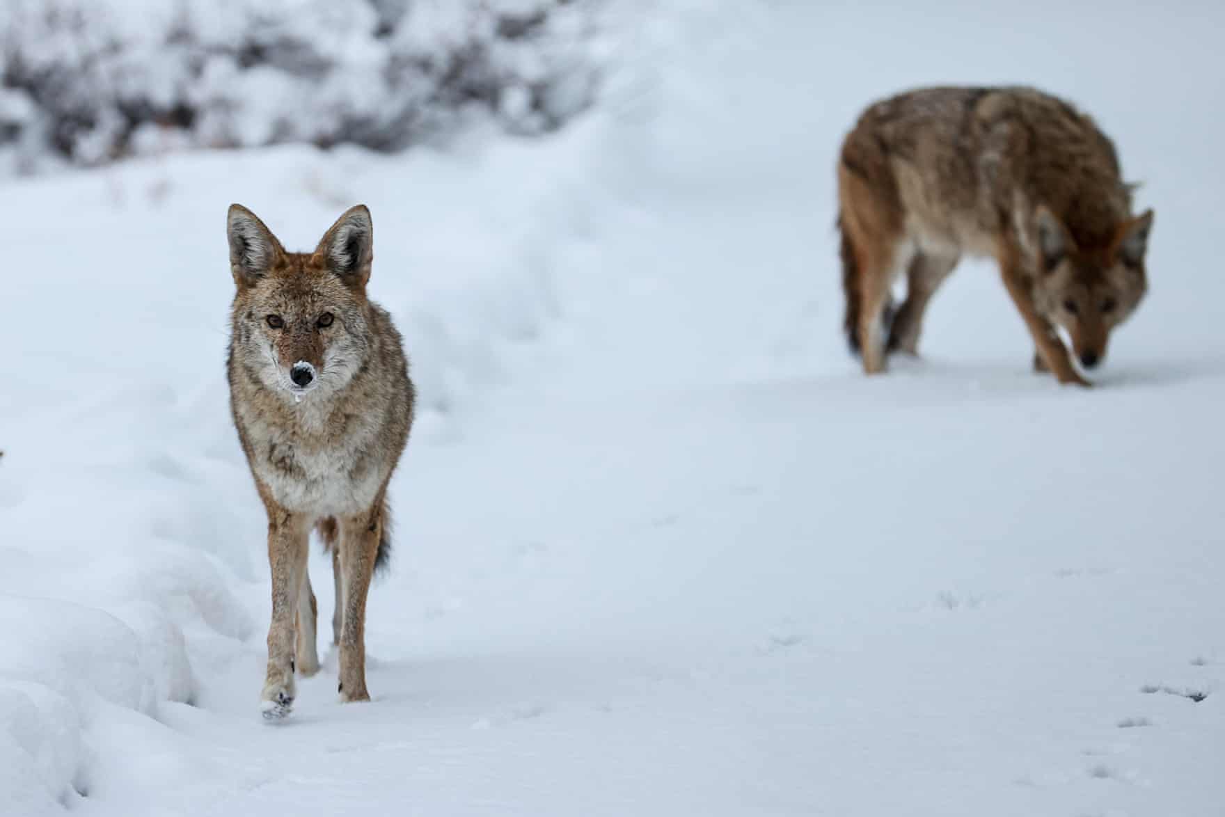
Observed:
[[[546,140],[0,189],[0,813],[1220,813],[1225,10],[719,6],[627,7]],[[952,81],[1082,102],[1158,211],[1096,390],[987,265],[924,361],[845,354],[837,145]],[[230,201],[370,205],[423,391],[375,701],[330,657],[276,726]]]

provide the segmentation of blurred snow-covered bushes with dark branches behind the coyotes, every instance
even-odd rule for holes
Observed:
[[[592,99],[594,0],[5,0],[0,168],[274,142],[401,149]]]

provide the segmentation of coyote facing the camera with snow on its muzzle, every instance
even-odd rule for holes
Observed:
[[[342,701],[369,701],[366,592],[390,552],[387,483],[413,424],[413,383],[391,316],[366,299],[370,211],[347,211],[314,252],[285,252],[255,213],[227,219],[236,293],[230,410],[268,512],[272,623],[265,718],[294,702],[294,671],[318,671],[306,574],[318,529],[332,554]]]

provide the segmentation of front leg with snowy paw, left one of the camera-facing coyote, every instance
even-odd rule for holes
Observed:
[[[284,718],[294,706],[294,620],[306,573],[309,522],[274,502],[268,510],[268,565],[272,568],[272,621],[268,625],[268,669],[260,708],[265,718]]]

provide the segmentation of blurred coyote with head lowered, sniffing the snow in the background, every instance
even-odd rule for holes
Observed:
[[[1088,386],[1057,329],[1091,369],[1143,298],[1153,211],[1132,216],[1132,189],[1093,120],[1033,88],[926,88],[869,107],[838,163],[845,331],[864,370],[916,353],[932,294],[976,255],[998,261],[1035,369]]]

